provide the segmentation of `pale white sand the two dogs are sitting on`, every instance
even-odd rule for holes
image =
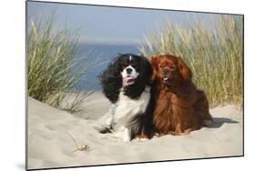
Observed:
[[[188,136],[122,142],[102,139],[93,128],[94,119],[108,111],[109,102],[100,93],[89,98],[83,117],[28,99],[29,169],[242,155],[242,114],[235,106],[211,109],[214,125]],[[91,150],[72,153],[76,146],[67,132]]]

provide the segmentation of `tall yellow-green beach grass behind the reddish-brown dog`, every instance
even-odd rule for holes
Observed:
[[[167,28],[145,36],[140,51],[177,55],[189,65],[193,82],[205,91],[210,106],[240,104],[243,91],[243,21],[241,16],[211,16],[210,25],[168,21]]]

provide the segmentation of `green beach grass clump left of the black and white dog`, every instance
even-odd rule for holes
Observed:
[[[87,94],[76,90],[97,60],[85,65],[87,55],[75,57],[79,48],[79,31],[56,28],[55,16],[29,20],[27,32],[28,96],[71,113],[81,110]],[[63,99],[76,92],[71,105],[61,106]]]

